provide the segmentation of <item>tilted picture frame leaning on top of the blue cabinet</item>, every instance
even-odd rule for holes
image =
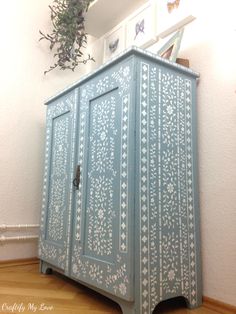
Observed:
[[[158,56],[175,62],[177,54],[179,52],[183,33],[184,29],[181,29],[178,32],[176,32],[175,35],[172,36],[160,50],[158,50],[157,52]]]

